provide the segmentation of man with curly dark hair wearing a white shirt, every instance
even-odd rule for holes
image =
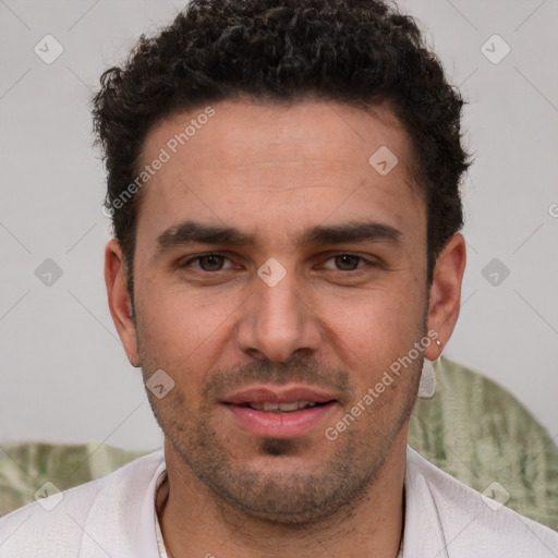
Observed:
[[[371,0],[193,1],[106,72],[108,299],[165,448],[0,556],[558,556],[407,447],[459,313],[461,107]]]

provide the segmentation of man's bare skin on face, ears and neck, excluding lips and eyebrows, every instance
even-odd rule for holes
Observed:
[[[145,379],[163,369],[175,383],[161,399],[147,392],[166,437],[167,548],[173,558],[395,557],[422,355],[337,440],[324,433],[428,330],[447,342],[463,238],[448,241],[428,290],[425,205],[408,135],[386,108],[243,100],[214,108],[142,193],[135,320],[120,246],[111,240],[106,248],[110,311],[130,361]],[[202,111],[157,123],[144,163]],[[380,146],[399,159],[385,177],[368,163]],[[157,239],[186,220],[234,227],[255,243],[158,250]],[[398,241],[300,242],[315,226],[363,221],[397,229]],[[226,256],[209,259],[222,269],[192,260],[207,252]],[[336,259],[341,254],[363,259]],[[270,257],[286,270],[275,287],[257,275]],[[424,356],[436,360],[441,349],[433,342]],[[219,403],[254,381],[317,386],[338,402],[305,435],[264,439]]]

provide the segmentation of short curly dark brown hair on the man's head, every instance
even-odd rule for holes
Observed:
[[[142,35],[128,61],[100,82],[93,117],[108,174],[105,206],[132,300],[141,192],[118,199],[138,175],[146,135],[174,111],[225,99],[388,104],[411,138],[426,204],[428,284],[441,248],[463,225],[463,100],[413,17],[387,2],[192,0],[155,37]]]

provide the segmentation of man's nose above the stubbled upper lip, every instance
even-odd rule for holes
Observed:
[[[250,356],[284,362],[319,347],[319,320],[293,276],[287,274],[274,287],[255,279],[236,331],[240,349]]]

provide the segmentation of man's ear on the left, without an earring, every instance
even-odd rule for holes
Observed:
[[[105,248],[105,282],[112,322],[133,366],[140,365],[135,324],[132,318],[132,302],[128,292],[122,248],[111,239]]]

